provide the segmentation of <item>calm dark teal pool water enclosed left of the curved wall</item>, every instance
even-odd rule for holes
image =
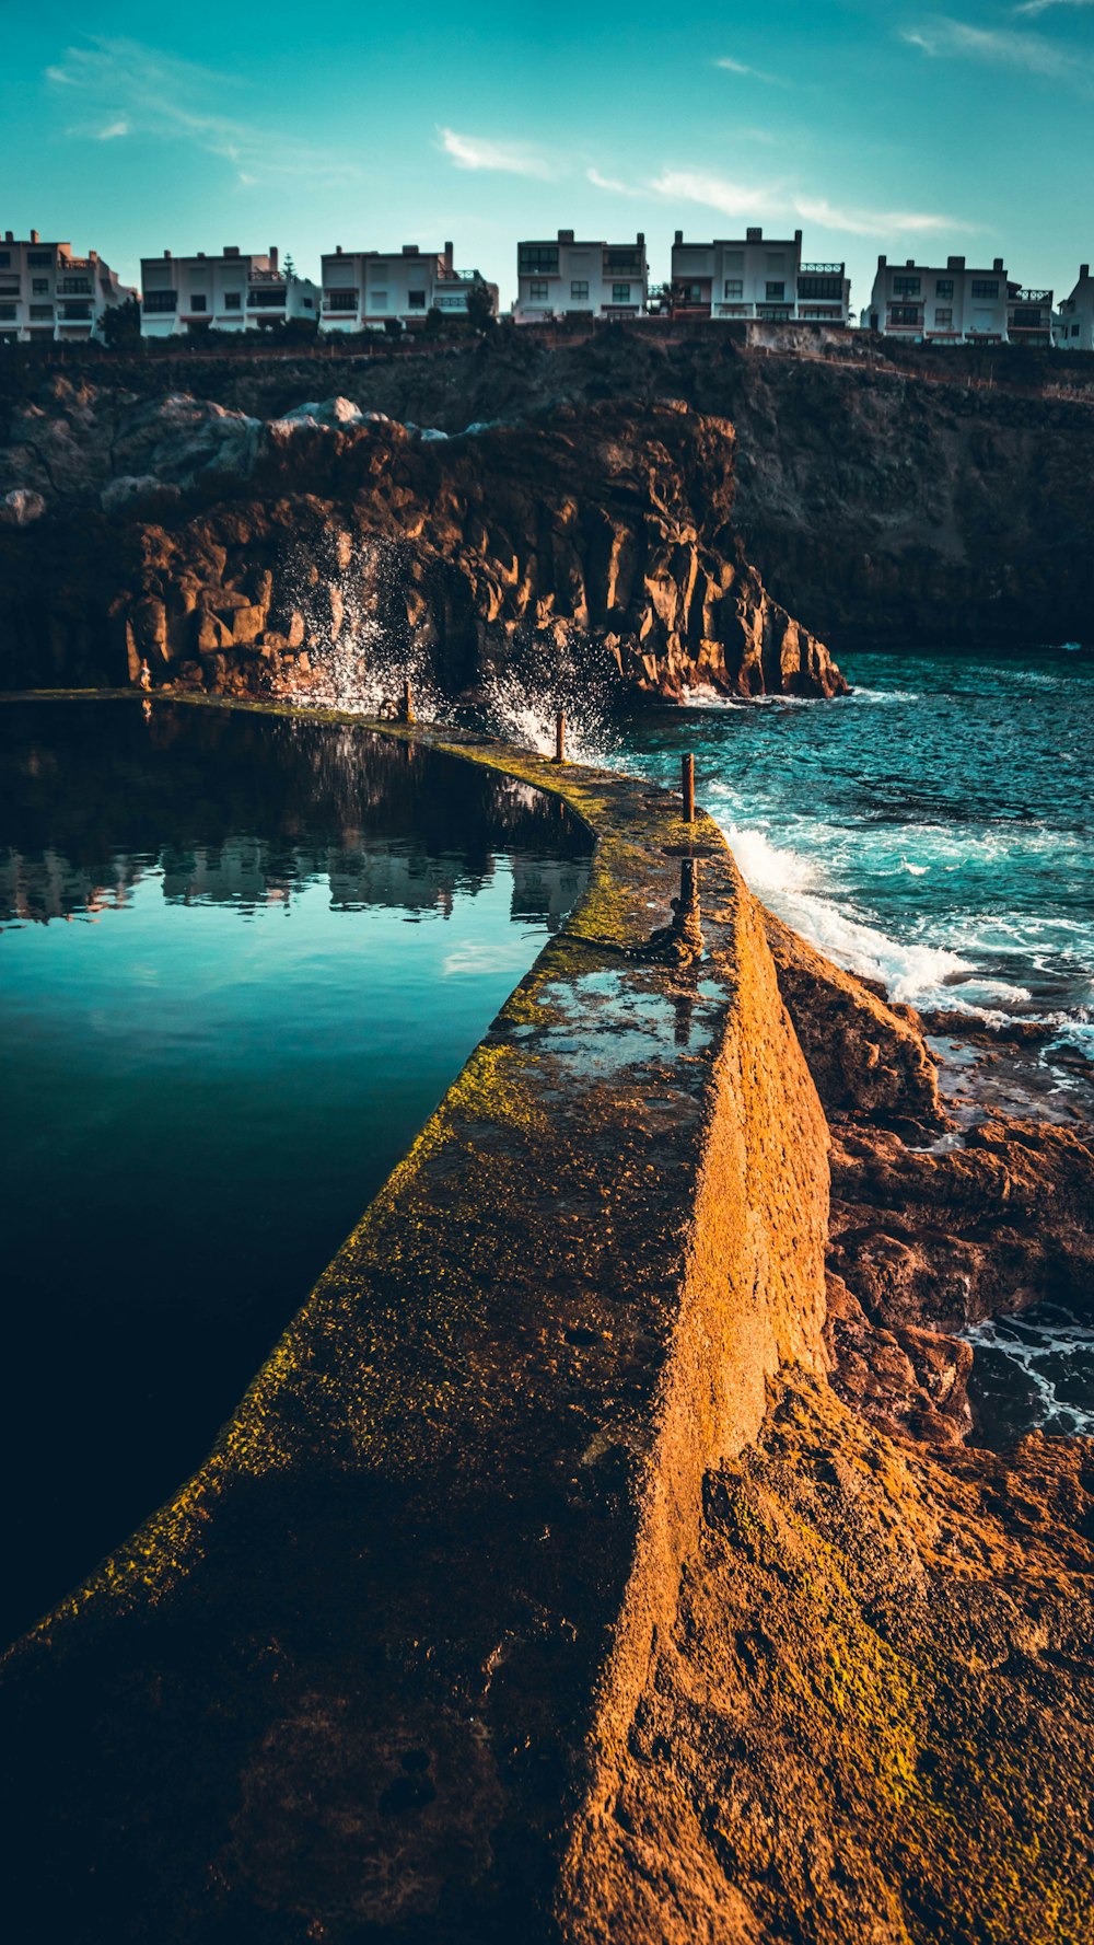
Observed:
[[[204,1457],[587,838],[356,729],[0,706],[2,1632]]]

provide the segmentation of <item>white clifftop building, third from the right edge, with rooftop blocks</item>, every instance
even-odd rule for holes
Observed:
[[[843,263],[803,263],[801,230],[793,237],[742,237],[672,243],[672,292],[680,317],[762,317],[771,323],[806,319],[845,325],[851,282]]]

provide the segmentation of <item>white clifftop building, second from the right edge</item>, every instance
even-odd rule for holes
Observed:
[[[1003,257],[991,270],[970,268],[964,257],[948,257],[944,268],[878,257],[863,323],[915,344],[1005,344],[1010,288]]]

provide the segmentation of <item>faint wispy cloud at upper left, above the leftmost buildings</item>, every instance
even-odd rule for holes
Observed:
[[[45,70],[45,80],[64,93],[72,109],[80,105],[85,111],[66,130],[74,138],[188,142],[220,156],[247,185],[293,177],[319,187],[359,175],[342,156],[295,140],[284,123],[264,126],[249,121],[249,84],[243,78],[214,74],[140,41],[93,35],[66,49],[62,60]],[[222,101],[225,89],[237,103],[231,117],[210,109],[210,101]]]

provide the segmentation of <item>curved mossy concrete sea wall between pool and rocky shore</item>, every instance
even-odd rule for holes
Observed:
[[[717,829],[443,747],[585,819],[589,891],[206,1467],[17,1649],[43,1935],[593,1935],[703,1480],[824,1369],[826,1126]],[[692,965],[643,955],[686,850]]]

